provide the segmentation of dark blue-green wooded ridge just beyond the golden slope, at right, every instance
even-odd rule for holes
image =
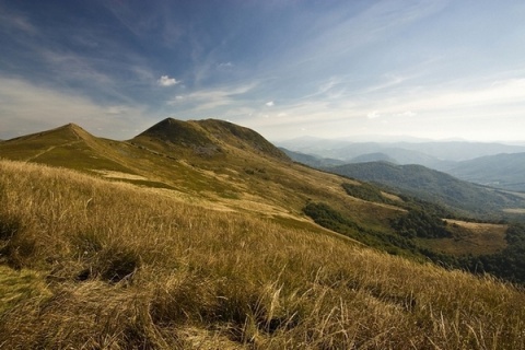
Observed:
[[[360,180],[382,184],[467,215],[498,218],[505,208],[525,206],[521,197],[467,183],[422,165],[369,162],[327,170]]]

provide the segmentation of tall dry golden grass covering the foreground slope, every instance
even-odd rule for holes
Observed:
[[[307,226],[8,161],[0,203],[0,276],[34,276],[0,348],[525,348],[522,290]]]

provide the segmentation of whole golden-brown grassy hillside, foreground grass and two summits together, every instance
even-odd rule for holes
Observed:
[[[247,128],[67,125],[0,159],[8,348],[524,345],[521,291],[430,261],[523,283],[525,229],[293,163]]]

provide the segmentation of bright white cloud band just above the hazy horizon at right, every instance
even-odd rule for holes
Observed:
[[[277,135],[272,131],[277,126],[279,130],[303,126],[329,137],[418,135],[442,138],[464,135],[487,140],[494,139],[498,132],[501,139],[518,140],[522,137],[516,128],[525,129],[525,118],[516,113],[520,105],[525,110],[525,79],[488,81],[481,78],[420,89],[402,85],[386,96],[364,93],[369,90],[363,86],[337,103],[317,96],[280,104],[276,115],[254,120],[252,125],[260,132],[271,135]],[[280,118],[281,114],[285,118]],[[515,128],[509,129],[508,126],[512,125]]]

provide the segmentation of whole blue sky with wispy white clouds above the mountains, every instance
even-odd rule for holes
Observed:
[[[523,0],[0,0],[0,139],[167,117],[525,141]]]

